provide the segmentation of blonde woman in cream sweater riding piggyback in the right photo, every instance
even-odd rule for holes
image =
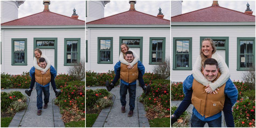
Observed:
[[[217,93],[216,90],[219,90],[218,87],[221,87],[223,84],[225,84],[230,77],[229,68],[227,67],[227,64],[225,63],[224,59],[215,52],[216,52],[216,47],[213,44],[213,40],[210,38],[203,39],[202,47],[200,49],[200,55],[197,57],[196,62],[192,69],[192,75],[194,79],[207,87],[205,89],[206,93],[213,92],[213,94]],[[214,83],[208,81],[201,73],[203,62],[207,58],[214,58],[218,62],[219,71],[221,75]],[[181,116],[181,114],[185,112],[185,110],[190,105],[192,92],[193,91],[190,90],[189,92],[186,93],[183,101],[181,102],[177,110],[175,110],[174,114],[171,116],[171,125],[177,121],[179,116]],[[227,123],[227,127],[235,127],[231,108],[232,108],[231,100],[229,97],[226,96],[223,112],[225,116],[225,121]]]

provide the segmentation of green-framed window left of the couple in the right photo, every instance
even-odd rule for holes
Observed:
[[[192,37],[173,38],[172,70],[192,70]]]

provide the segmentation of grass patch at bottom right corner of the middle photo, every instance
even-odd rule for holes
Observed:
[[[170,127],[170,117],[165,118],[155,118],[153,120],[149,120],[150,127]]]

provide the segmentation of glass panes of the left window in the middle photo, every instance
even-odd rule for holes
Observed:
[[[100,61],[110,61],[110,39],[100,39]]]

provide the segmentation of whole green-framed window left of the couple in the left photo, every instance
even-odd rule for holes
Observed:
[[[12,39],[12,65],[27,65],[27,39]]]

